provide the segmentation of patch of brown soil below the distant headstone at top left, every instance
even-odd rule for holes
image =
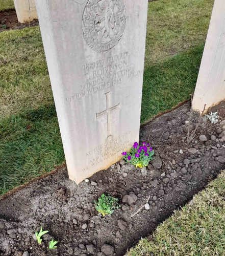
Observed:
[[[19,23],[16,11],[14,9],[0,12],[0,32],[10,29],[23,29],[38,25],[38,20],[35,19],[30,23]]]

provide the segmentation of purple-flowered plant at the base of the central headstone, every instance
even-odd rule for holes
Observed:
[[[148,163],[153,160],[154,154],[153,148],[146,142],[143,142],[142,146],[138,146],[138,143],[134,142],[130,152],[122,153],[123,159],[126,162],[139,168],[147,166]]]

